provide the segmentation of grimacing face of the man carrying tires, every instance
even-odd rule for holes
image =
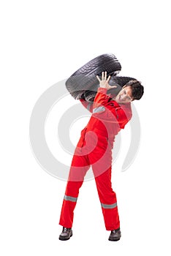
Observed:
[[[118,95],[115,97],[115,101],[118,103],[128,103],[132,102],[132,87],[131,86],[123,86],[121,91],[119,91]]]

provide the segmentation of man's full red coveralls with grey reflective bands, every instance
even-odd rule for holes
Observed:
[[[84,176],[92,167],[106,230],[120,227],[115,192],[111,184],[112,148],[115,135],[132,117],[131,104],[118,105],[107,89],[99,88],[94,102],[80,102],[91,112],[87,126],[81,131],[75,148],[59,225],[72,227],[74,209]]]

